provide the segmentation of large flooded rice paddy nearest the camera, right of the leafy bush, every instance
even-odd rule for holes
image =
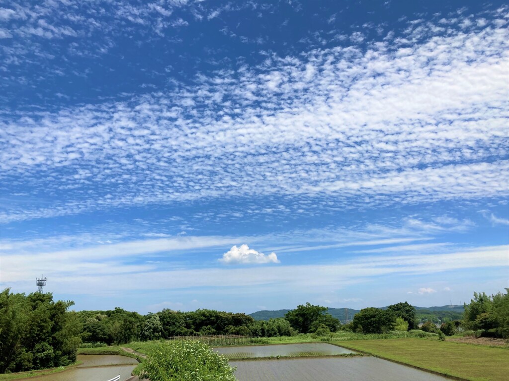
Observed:
[[[448,381],[375,357],[230,361],[239,381]]]

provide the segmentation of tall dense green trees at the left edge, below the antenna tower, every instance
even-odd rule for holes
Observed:
[[[74,303],[50,293],[0,293],[0,373],[69,365],[76,360],[81,326]]]

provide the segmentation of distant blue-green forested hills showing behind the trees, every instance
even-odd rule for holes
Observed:
[[[386,309],[387,307],[382,307],[382,309]],[[448,306],[432,306],[432,307],[415,307],[416,309],[416,317],[417,319],[425,319],[432,320],[432,318],[444,318],[450,320],[458,320],[463,317],[463,306],[461,305],[448,305]],[[360,310],[346,308],[348,311],[348,320],[351,321],[353,315],[355,315]],[[249,315],[253,317],[254,320],[269,320],[275,319],[277,317],[284,317],[285,314],[289,311],[289,309],[278,309],[278,310],[263,310],[256,311],[250,313]],[[345,314],[345,308],[328,308],[327,312],[334,316],[336,319],[340,320],[341,323],[345,323],[347,321],[347,316]]]

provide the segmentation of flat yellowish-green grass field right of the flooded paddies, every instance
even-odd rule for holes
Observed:
[[[472,381],[508,381],[509,350],[419,338],[333,341],[385,359]]]

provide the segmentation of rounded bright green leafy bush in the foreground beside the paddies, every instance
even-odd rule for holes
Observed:
[[[235,381],[234,370],[202,342],[172,340],[159,345],[134,372],[151,381]]]

